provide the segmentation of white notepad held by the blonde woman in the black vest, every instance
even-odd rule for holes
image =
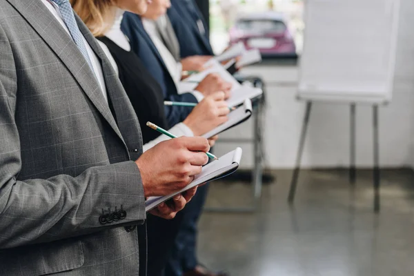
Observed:
[[[228,121],[226,123],[217,126],[217,128],[207,132],[203,135],[204,138],[211,138],[215,135],[224,132],[230,128],[237,126],[238,124],[242,124],[244,121],[247,121],[248,118],[252,115],[252,101],[250,99],[246,99],[242,106],[239,106],[236,110],[233,110],[228,115]]]

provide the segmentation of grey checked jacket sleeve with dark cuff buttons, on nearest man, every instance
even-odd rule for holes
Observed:
[[[141,224],[144,189],[134,161],[88,168],[81,175],[19,179],[22,164],[17,68],[0,26],[0,249],[52,242],[105,228]],[[125,219],[102,225],[102,209],[123,206]]]

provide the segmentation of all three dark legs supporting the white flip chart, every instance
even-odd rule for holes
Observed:
[[[311,118],[312,101],[306,103],[306,111],[302,124],[302,132],[299,139],[299,149],[297,151],[295,170],[293,171],[292,181],[288,195],[289,204],[293,204],[297,189],[297,179],[299,179],[300,165],[304,152],[306,132],[308,130],[309,119]],[[355,185],[356,169],[355,169],[355,103],[351,103],[350,110],[350,166],[349,166],[349,182]],[[380,212],[380,141],[378,139],[378,106],[373,105],[373,188],[374,188],[374,211]]]

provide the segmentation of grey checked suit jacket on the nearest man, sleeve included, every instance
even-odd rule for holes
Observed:
[[[105,54],[112,112],[41,0],[0,1],[0,274],[138,275],[139,122]]]

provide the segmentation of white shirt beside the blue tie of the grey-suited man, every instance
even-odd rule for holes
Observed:
[[[68,32],[70,35],[70,32],[68,30],[68,27],[66,26],[65,22],[62,19],[61,13],[59,11],[59,7],[55,2],[52,2],[50,0],[41,0],[46,8],[52,12],[53,16],[59,21],[61,26]],[[72,36],[70,36],[72,38]],[[97,77],[97,81],[99,83],[99,86],[101,87],[101,92],[103,94],[103,97],[105,98],[105,101],[108,102],[108,95],[106,94],[106,86],[105,86],[105,79],[103,79],[103,72],[101,63],[99,62],[99,59],[97,55],[95,55],[95,52],[93,52],[92,48],[90,48],[88,41],[86,41],[85,37],[82,36],[83,43],[86,46],[86,51],[88,52],[88,56],[90,59],[90,62],[92,63],[92,70],[95,72],[95,76]]]

